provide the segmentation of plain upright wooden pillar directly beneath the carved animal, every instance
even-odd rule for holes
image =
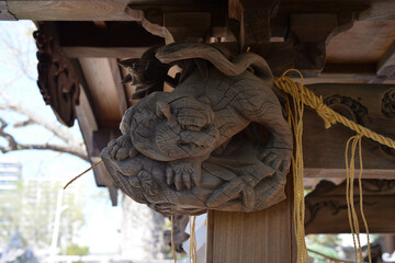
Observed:
[[[295,262],[292,178],[287,198],[255,213],[208,210],[207,263]]]

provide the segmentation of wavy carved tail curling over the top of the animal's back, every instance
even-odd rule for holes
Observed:
[[[159,48],[156,57],[163,64],[203,58],[227,76],[240,75],[252,66],[257,77],[270,81],[273,79],[269,65],[261,56],[253,53],[242,53],[229,61],[217,48],[207,44],[173,43]]]

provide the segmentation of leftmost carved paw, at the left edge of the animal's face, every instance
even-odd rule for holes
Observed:
[[[111,140],[108,149],[111,157],[117,161],[123,161],[126,158],[133,158],[137,155],[137,150],[133,146],[129,135],[123,135],[115,140]]]

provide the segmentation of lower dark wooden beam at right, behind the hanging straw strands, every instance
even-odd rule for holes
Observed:
[[[364,180],[363,210],[371,233],[395,232],[395,181]],[[354,182],[354,206],[360,220],[360,231],[365,232],[359,206],[358,182]],[[306,198],[306,233],[350,232],[346,182],[335,185],[321,181]]]

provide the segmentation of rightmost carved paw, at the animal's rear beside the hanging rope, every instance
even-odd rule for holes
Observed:
[[[258,157],[264,164],[284,172],[289,170],[291,162],[292,150],[284,148],[267,148]]]

